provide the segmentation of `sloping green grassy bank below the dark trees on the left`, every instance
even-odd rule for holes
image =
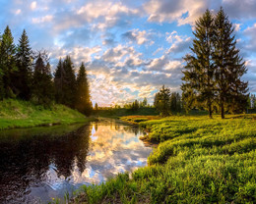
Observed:
[[[68,125],[87,121],[92,119],[63,105],[44,108],[22,100],[6,99],[0,102],[0,129]]]

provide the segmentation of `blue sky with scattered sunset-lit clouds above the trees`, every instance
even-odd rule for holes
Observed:
[[[0,32],[9,25],[17,43],[26,29],[32,49],[48,51],[52,72],[66,55],[76,71],[84,62],[99,106],[152,103],[162,84],[180,91],[195,21],[221,6],[256,93],[255,0],[0,0]]]

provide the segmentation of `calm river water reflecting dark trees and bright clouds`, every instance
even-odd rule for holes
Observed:
[[[0,203],[45,203],[147,165],[143,132],[114,120],[0,131]]]

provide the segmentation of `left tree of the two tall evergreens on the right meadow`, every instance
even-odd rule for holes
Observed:
[[[191,48],[193,55],[184,58],[186,66],[182,80],[185,82],[182,83],[181,89],[188,104],[196,101],[201,103],[208,109],[209,117],[212,118],[215,99],[215,68],[212,60],[214,17],[209,10],[196,22],[194,35]]]

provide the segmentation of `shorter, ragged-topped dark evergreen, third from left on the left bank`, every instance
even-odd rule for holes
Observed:
[[[38,104],[48,106],[54,99],[54,88],[50,65],[48,62],[45,62],[45,58],[40,52],[36,57],[32,81],[33,99]]]

